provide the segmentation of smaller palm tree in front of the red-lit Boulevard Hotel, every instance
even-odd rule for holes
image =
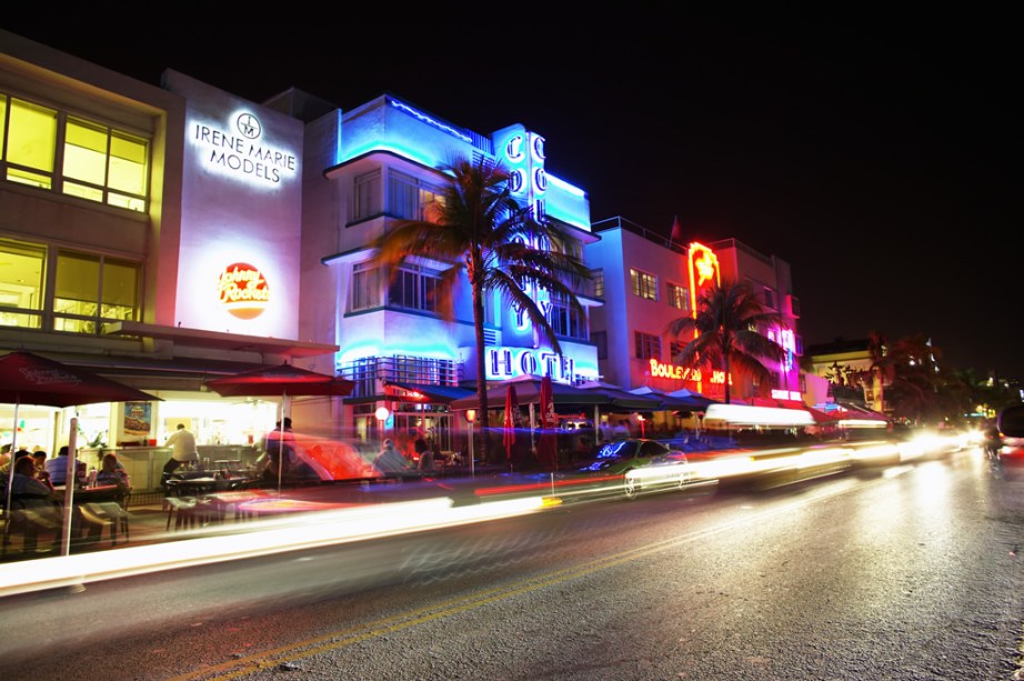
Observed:
[[[767,385],[772,372],[761,360],[781,362],[785,358],[783,347],[759,331],[766,326],[783,327],[784,320],[776,312],[766,312],[749,284],[715,284],[697,299],[696,317],[669,322],[667,332],[673,338],[696,334],[673,361],[683,367],[723,368],[729,404],[732,371]]]

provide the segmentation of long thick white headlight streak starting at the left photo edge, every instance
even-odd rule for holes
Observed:
[[[248,531],[238,524],[214,529],[197,539],[116,551],[42,558],[0,564],[0,597],[177,568],[224,562],[257,555],[393,537],[538,512],[556,500],[522,497],[472,505],[454,505],[449,498],[371,504],[318,511],[301,518],[257,521]]]

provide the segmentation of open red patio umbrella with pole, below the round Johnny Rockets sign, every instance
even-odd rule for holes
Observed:
[[[278,455],[278,491],[281,490],[281,473],[284,459],[284,402],[290,397],[347,395],[355,387],[354,381],[341,379],[291,364],[262,367],[207,381],[207,388],[223,397],[277,397],[281,395],[281,443]]]

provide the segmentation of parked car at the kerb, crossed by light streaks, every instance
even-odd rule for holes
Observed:
[[[641,492],[680,489],[693,478],[685,452],[647,438],[603,444],[593,461],[579,472],[621,487],[626,499],[635,499]]]

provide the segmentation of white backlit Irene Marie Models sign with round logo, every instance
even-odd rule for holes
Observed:
[[[263,126],[254,114],[241,111],[231,117],[229,129],[194,122],[189,141],[200,151],[208,169],[257,184],[279,184],[298,178],[299,159],[285,149],[261,140]]]

